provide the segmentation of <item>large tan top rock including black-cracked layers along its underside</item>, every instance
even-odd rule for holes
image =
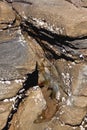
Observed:
[[[76,60],[85,57],[86,60],[87,40],[81,38],[86,36],[86,9],[76,8],[66,1],[30,2],[32,5],[12,4],[23,18],[24,29],[32,31],[31,35],[40,39],[40,44],[57,56]]]

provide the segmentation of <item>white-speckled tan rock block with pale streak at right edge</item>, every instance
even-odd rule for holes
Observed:
[[[86,63],[76,64],[65,60],[55,62],[63,90],[76,96],[86,96]],[[69,94],[69,93],[68,93]]]

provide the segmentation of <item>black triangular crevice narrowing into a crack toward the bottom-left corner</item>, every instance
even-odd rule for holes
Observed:
[[[2,130],[9,130],[14,114],[17,112],[18,107],[20,103],[22,102],[22,100],[27,97],[26,96],[27,90],[29,90],[29,88],[36,85],[38,85],[38,63],[36,63],[35,70],[32,73],[27,74],[27,78],[25,82],[23,83],[23,88],[21,88],[16,94],[14,106],[8,116],[6,125]]]

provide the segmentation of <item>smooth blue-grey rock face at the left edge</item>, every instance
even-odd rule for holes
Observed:
[[[17,71],[27,61],[28,46],[20,34],[9,41],[0,43],[0,80],[20,78]]]

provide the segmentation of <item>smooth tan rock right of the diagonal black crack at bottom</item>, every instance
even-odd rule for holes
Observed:
[[[14,130],[31,129],[37,116],[45,108],[46,102],[40,88],[31,90],[27,94],[28,97],[24,100],[24,103],[20,104],[17,114],[14,116],[12,122]],[[15,121],[16,124],[14,125]]]

